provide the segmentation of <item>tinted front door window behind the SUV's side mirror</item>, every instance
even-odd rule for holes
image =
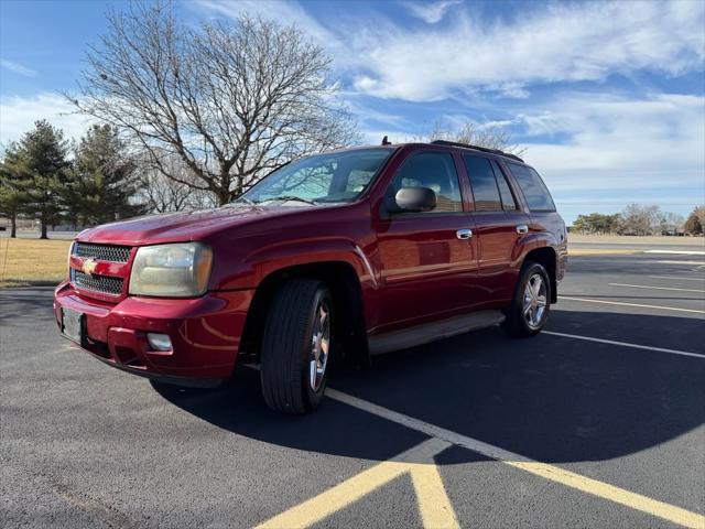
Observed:
[[[447,152],[412,154],[397,172],[389,193],[402,187],[430,187],[436,194],[436,207],[429,213],[462,212],[460,184],[453,155]]]

